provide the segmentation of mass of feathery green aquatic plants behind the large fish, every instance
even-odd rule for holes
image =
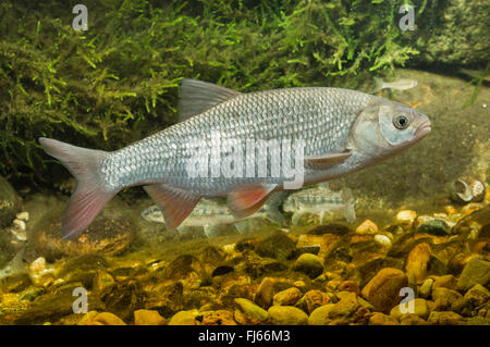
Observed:
[[[112,150],[175,123],[183,77],[355,88],[417,53],[380,1],[87,0],[87,32],[75,3],[0,4],[0,174],[52,179],[39,136]]]

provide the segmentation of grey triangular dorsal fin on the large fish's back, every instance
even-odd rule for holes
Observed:
[[[179,89],[179,122],[230,100],[240,92],[212,83],[184,78]]]

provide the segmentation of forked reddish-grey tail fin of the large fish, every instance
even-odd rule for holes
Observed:
[[[72,146],[62,141],[40,137],[39,144],[46,153],[54,157],[76,179],[73,195],[66,202],[61,220],[64,238],[79,235],[118,194],[105,186],[100,164],[107,152]]]

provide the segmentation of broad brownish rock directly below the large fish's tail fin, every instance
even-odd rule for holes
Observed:
[[[131,223],[126,218],[98,216],[78,238],[74,239],[64,239],[61,236],[59,216],[44,226],[33,226],[33,230],[35,232],[28,235],[29,244],[48,261],[82,255],[119,255],[133,239]]]

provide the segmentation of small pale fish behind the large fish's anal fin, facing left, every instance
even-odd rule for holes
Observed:
[[[184,222],[177,227],[179,231],[183,231],[183,227],[187,226],[201,226],[205,234],[208,237],[213,236],[217,231],[216,226],[225,224],[235,224],[236,230],[240,233],[245,233],[248,228],[243,222],[250,219],[267,220],[275,225],[284,226],[286,220],[284,215],[279,211],[279,207],[287,196],[287,191],[278,191],[270,196],[266,203],[254,214],[247,218],[240,219],[233,215],[232,211],[224,202],[217,199],[203,198],[194,208],[193,212],[184,220]],[[148,222],[163,223],[166,224],[163,213],[161,209],[152,205],[142,212],[142,216]]]

